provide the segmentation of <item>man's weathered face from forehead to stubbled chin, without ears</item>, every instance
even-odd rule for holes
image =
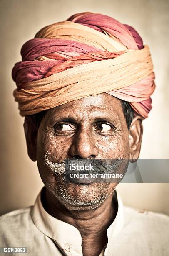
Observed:
[[[66,184],[45,163],[47,151],[53,163],[73,157],[129,159],[129,131],[120,100],[102,93],[60,105],[47,111],[38,129],[37,165],[47,190],[68,209],[98,207],[117,184]]]

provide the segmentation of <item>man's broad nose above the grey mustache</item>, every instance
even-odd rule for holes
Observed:
[[[70,154],[73,157],[89,158],[96,157],[99,154],[98,148],[95,145],[92,134],[85,129],[77,133],[74,137]]]

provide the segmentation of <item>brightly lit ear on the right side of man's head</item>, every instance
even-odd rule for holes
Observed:
[[[130,162],[135,162],[139,158],[143,134],[142,120],[144,119],[141,116],[137,115],[133,118],[132,123],[130,125]]]

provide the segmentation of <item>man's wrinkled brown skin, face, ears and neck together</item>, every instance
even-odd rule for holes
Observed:
[[[54,163],[75,156],[99,159],[123,157],[135,161],[139,157],[142,140],[142,118],[136,116],[129,131],[120,100],[102,93],[47,110],[38,131],[32,118],[26,117],[24,128],[28,154],[33,161],[37,160],[46,187],[46,210],[80,230],[84,255],[97,255],[106,243],[103,237],[107,237],[107,227],[116,215],[111,202],[117,184],[65,184],[62,176],[52,175],[44,155],[49,150],[50,161]],[[78,222],[79,217],[81,220]],[[84,233],[86,225],[94,225],[96,219],[98,230],[95,230],[95,235],[99,239],[98,244],[102,241],[99,246],[94,246],[94,236],[90,239],[89,233],[87,240]],[[89,246],[93,247],[92,254]]]

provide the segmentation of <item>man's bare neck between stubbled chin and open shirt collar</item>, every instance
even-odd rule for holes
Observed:
[[[53,217],[77,228],[82,236],[83,255],[99,255],[107,243],[107,228],[114,221],[117,205],[114,193],[102,205],[92,210],[69,210],[45,189],[43,206]],[[92,248],[92,252],[90,251]]]

